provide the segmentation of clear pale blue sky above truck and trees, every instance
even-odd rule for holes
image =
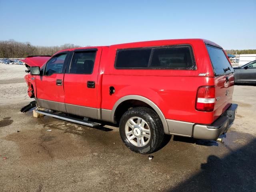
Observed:
[[[0,0],[0,40],[99,46],[178,38],[256,49],[256,0]]]

